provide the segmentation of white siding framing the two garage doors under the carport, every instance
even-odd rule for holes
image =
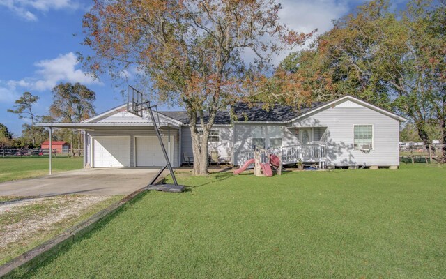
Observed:
[[[163,129],[162,134],[164,137],[169,135],[167,129]],[[155,130],[153,128],[139,128],[139,129],[125,129],[125,128],[114,128],[114,129],[101,129],[94,130],[88,132],[89,137],[104,137],[104,136],[120,136],[120,135],[128,135],[130,136],[130,167],[134,167],[134,137],[135,136],[144,136],[144,135],[153,135],[156,136]],[[178,130],[171,128],[170,129],[171,141],[174,142],[174,160],[171,161],[173,167],[178,167],[180,163],[179,151],[178,151]],[[167,146],[165,146],[167,149]],[[87,154],[89,156],[89,162],[91,164],[91,140],[89,140],[86,144],[86,148],[88,150]],[[161,146],[160,146],[161,149]]]

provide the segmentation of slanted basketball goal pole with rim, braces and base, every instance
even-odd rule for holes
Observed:
[[[130,103],[130,89],[137,91],[132,86],[129,86],[129,103]],[[140,93],[140,92],[137,91],[137,93]],[[176,181],[174,169],[172,169],[172,165],[170,163],[169,156],[167,156],[166,148],[164,147],[164,143],[162,142],[160,129],[158,128],[157,122],[155,121],[155,116],[153,116],[152,108],[156,107],[156,105],[151,106],[149,101],[142,101],[141,99],[138,99],[138,102],[135,103],[134,99],[132,98],[132,110],[129,110],[130,107],[128,107],[128,111],[131,112],[132,114],[136,114],[138,116],[142,116],[142,111],[144,111],[144,110],[148,111],[148,114],[151,117],[151,121],[153,123],[153,128],[155,128],[155,133],[158,137],[158,140],[160,141],[162,153],[164,154],[164,158],[166,159],[166,162],[167,162],[167,165],[165,165],[164,167],[162,167],[162,169],[160,169],[160,171],[153,177],[153,179],[148,183],[148,185],[146,187],[144,187],[144,189],[164,191],[164,192],[174,192],[174,193],[183,192],[185,190],[185,186],[178,185],[178,182]],[[139,114],[139,113],[141,113],[141,114]],[[158,121],[159,121],[159,118],[158,118]],[[170,184],[170,183],[154,184],[155,181],[157,181],[157,179],[160,177],[162,172],[164,172],[164,169],[166,169],[167,167],[169,168],[169,172],[172,176],[172,179],[174,179],[174,184]]]

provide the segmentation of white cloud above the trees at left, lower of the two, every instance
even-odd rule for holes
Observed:
[[[34,64],[38,67],[38,70],[33,77],[24,77],[22,80],[8,80],[3,82],[4,86],[0,87],[0,90],[15,92],[17,87],[20,87],[28,91],[45,91],[51,90],[59,82],[79,82],[86,85],[100,84],[98,80],[93,80],[83,70],[78,69],[78,63],[77,57],[72,52],[61,54],[54,59],[38,61]],[[11,94],[8,94],[8,96],[11,96]]]

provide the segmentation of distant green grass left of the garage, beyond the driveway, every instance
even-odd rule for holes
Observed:
[[[52,158],[53,172],[65,172],[82,168],[83,158]],[[26,179],[47,175],[49,170],[48,156],[31,158],[0,158],[0,182]]]

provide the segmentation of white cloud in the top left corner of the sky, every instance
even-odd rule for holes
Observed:
[[[81,7],[77,1],[72,0],[0,0],[0,6],[5,6],[29,22],[38,20],[36,12],[62,9],[77,10]]]

